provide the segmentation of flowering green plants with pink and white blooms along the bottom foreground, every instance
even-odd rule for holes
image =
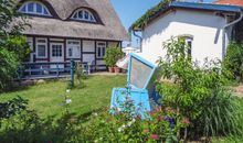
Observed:
[[[34,111],[24,111],[0,121],[0,142],[173,143],[179,142],[177,131],[189,123],[187,119],[179,118],[171,108],[157,108],[147,120],[130,116],[133,109],[129,106],[129,111],[119,111],[115,116],[108,113],[107,109],[87,117],[65,114],[59,120],[40,119]],[[178,122],[173,119],[178,119]]]

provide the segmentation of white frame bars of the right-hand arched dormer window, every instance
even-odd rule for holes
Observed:
[[[82,18],[78,18],[78,13],[82,11]],[[85,19],[85,12],[88,13],[88,19]],[[76,18],[74,18],[76,15]],[[89,10],[86,10],[86,9],[78,9],[76,10],[72,18],[72,20],[78,20],[78,21],[88,21],[88,22],[96,22],[96,19],[94,16],[94,14],[89,11]],[[92,20],[93,19],[93,20]]]

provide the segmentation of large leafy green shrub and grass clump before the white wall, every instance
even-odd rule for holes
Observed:
[[[184,40],[172,37],[165,43],[167,55],[161,59],[161,76],[171,84],[158,81],[162,103],[177,109],[188,117],[190,127],[183,132],[184,139],[240,133],[242,119],[239,105],[225,87],[226,78],[221,74],[220,62],[197,65],[187,55]]]

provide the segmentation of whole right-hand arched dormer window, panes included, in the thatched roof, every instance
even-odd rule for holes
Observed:
[[[96,22],[94,14],[86,9],[80,9],[75,11],[71,19],[78,21]]]

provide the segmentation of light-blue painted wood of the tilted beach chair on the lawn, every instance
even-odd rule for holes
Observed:
[[[151,70],[147,75],[146,82],[142,88],[138,88],[131,84],[131,69],[133,69],[133,58],[137,62],[145,64],[150,67]],[[142,70],[142,68],[140,69]],[[129,54],[128,61],[128,72],[127,72],[127,88],[114,88],[110,101],[110,109],[119,108],[123,110],[123,105],[127,101],[127,97],[133,101],[136,112],[138,112],[142,118],[147,117],[147,112],[151,111],[156,106],[158,106],[159,95],[155,91],[155,85],[152,77],[157,70],[157,65],[148,62],[147,59],[136,55]],[[139,78],[139,77],[138,77]]]

